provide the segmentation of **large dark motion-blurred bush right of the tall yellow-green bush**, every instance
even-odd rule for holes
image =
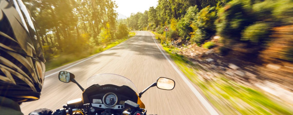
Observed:
[[[219,8],[217,33],[223,38],[239,40],[243,29],[253,23],[251,9],[250,0],[232,0]]]

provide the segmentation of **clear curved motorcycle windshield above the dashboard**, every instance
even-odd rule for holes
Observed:
[[[123,77],[121,75],[116,74],[98,74],[93,77],[88,78],[86,81],[86,88],[93,84],[99,84],[99,85],[105,85],[105,84],[113,84],[116,86],[129,86],[133,91],[135,91],[138,94],[138,91],[134,84],[127,79],[126,77]]]

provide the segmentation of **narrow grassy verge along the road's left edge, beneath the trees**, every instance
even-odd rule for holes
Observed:
[[[111,47],[114,47],[126,40],[128,40],[129,38],[135,36],[135,32],[129,32],[129,37],[125,37],[123,39],[118,39],[115,40],[115,42],[112,43],[108,43],[106,45],[106,47],[103,48],[103,46],[96,46],[92,49],[88,49],[86,52],[81,52],[79,55],[75,55],[75,54],[59,54],[54,56],[54,58],[45,63],[46,66],[46,71],[52,70],[54,68],[66,65],[68,63],[72,63],[74,61],[80,60],[80,59],[84,59],[86,57],[92,56],[94,54],[97,54],[99,52],[103,52],[107,49],[110,49]]]

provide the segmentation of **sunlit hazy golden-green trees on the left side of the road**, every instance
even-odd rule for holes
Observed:
[[[45,50],[46,66],[61,56],[86,57],[127,37],[111,0],[23,0]],[[62,62],[61,62],[62,63]]]

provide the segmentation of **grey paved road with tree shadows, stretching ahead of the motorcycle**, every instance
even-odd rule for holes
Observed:
[[[142,91],[158,77],[174,79],[173,90],[153,87],[142,95],[148,114],[183,115],[210,114],[178,72],[158,49],[152,33],[137,31],[132,39],[108,51],[46,72],[41,99],[21,105],[24,114],[34,109],[62,108],[67,101],[81,98],[81,90],[74,83],[59,82],[60,70],[74,73],[76,81],[86,87],[86,80],[96,74],[113,73],[127,77]],[[159,42],[157,42],[159,43]],[[168,55],[167,55],[168,56]],[[50,75],[50,76],[49,76]]]

